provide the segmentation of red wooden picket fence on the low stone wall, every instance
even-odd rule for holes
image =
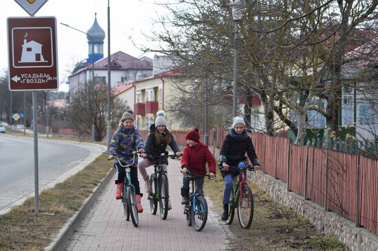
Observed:
[[[251,137],[265,174],[287,182],[289,156],[289,191],[306,193],[307,199],[327,211],[357,219],[357,226],[378,234],[378,160],[293,145],[288,139],[265,134]]]

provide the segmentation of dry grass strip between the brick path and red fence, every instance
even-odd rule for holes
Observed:
[[[335,237],[324,236],[308,219],[287,206],[280,206],[252,182],[254,218],[249,229],[238,224],[237,214],[230,230],[236,239],[230,240],[230,250],[346,250]],[[205,194],[215,202],[221,217],[224,181],[206,180]]]

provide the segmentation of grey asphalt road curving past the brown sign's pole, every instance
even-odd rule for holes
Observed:
[[[39,190],[76,174],[104,150],[104,145],[38,139]],[[34,197],[33,139],[0,134],[0,214],[30,196]]]

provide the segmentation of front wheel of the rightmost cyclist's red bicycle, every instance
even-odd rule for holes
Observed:
[[[247,184],[241,187],[241,194],[238,196],[238,219],[240,226],[244,229],[249,228],[254,217],[254,196]]]

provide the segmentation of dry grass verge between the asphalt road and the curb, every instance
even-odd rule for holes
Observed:
[[[38,215],[34,198],[0,215],[0,250],[43,250],[111,168],[107,154],[102,154],[75,176],[44,190]]]

